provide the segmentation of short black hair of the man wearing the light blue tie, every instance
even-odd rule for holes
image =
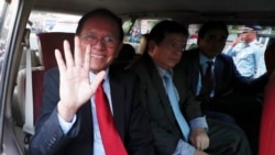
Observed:
[[[173,20],[164,20],[157,23],[148,34],[148,41],[153,40],[156,44],[160,44],[167,33],[180,33],[188,37],[189,33],[186,26],[183,24],[173,21]]]

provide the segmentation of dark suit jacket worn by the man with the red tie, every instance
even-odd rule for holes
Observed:
[[[150,123],[133,91],[130,74],[109,70],[114,123],[129,154],[152,155],[153,134]],[[58,125],[56,104],[59,100],[59,74],[54,68],[44,78],[41,118],[30,145],[33,155],[92,155],[94,128],[90,101],[77,112],[77,120],[67,135]]]

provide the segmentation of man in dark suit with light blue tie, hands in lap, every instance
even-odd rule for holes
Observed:
[[[175,67],[187,37],[187,29],[179,23],[160,22],[150,32],[147,52],[129,67],[139,76],[140,98],[151,121],[157,154],[250,155],[243,131],[234,124],[206,119],[182,68]],[[166,76],[173,81],[168,82]],[[182,128],[183,122],[187,125]]]

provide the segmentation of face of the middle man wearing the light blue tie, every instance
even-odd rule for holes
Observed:
[[[169,69],[179,62],[185,44],[186,36],[183,34],[166,34],[158,45],[154,41],[150,42],[148,54],[157,66]]]

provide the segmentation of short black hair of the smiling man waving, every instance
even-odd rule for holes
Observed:
[[[118,24],[118,27],[120,31],[119,32],[119,40],[120,41],[123,40],[124,33],[123,33],[123,29],[122,29],[122,20],[119,16],[117,16],[113,12],[111,12],[110,10],[105,9],[105,8],[95,9],[95,10],[91,10],[91,11],[87,12],[86,14],[84,14],[82,18],[79,20],[78,26],[76,29],[77,35],[80,34],[85,22],[94,16],[107,16],[107,18],[112,19]]]

